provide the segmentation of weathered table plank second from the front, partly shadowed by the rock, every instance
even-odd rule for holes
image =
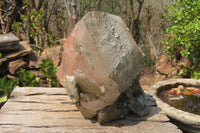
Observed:
[[[31,115],[32,114],[32,115]],[[146,117],[146,118],[139,118],[134,115],[129,115],[123,120],[119,120],[118,122],[120,125],[132,125],[133,123],[138,123],[142,121],[149,121],[149,122],[160,122],[165,123],[168,121],[167,118],[163,116],[163,114],[158,114],[159,116],[154,115],[154,117]],[[20,116],[20,117],[19,117]],[[164,117],[164,118],[162,118]],[[60,125],[79,125],[79,126],[95,126],[92,125],[91,120],[84,119],[80,112],[30,112],[29,114],[23,112],[19,113],[5,113],[0,120],[0,125],[14,125],[20,124],[23,126],[60,126]],[[12,121],[11,121],[12,120]],[[37,123],[36,123],[37,121]],[[115,123],[116,124],[116,123]]]

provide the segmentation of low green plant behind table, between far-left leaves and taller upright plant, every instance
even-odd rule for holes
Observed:
[[[17,72],[19,76],[19,81],[23,86],[28,87],[38,87],[40,86],[40,79],[36,77],[32,71],[26,71],[25,69],[20,69]]]

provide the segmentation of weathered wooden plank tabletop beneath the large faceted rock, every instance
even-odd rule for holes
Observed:
[[[148,96],[151,113],[143,118],[129,115],[100,125],[84,119],[64,88],[15,88],[0,111],[2,133],[181,133]]]

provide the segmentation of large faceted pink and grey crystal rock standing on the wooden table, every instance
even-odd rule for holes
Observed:
[[[89,12],[63,45],[57,76],[86,118],[100,123],[134,112],[148,113],[136,77],[144,55],[118,16]]]

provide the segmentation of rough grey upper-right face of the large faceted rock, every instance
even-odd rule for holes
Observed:
[[[120,17],[95,12],[88,13],[82,21],[95,41],[94,45],[109,76],[120,82],[120,91],[123,92],[132,85],[143,67],[143,52]]]

